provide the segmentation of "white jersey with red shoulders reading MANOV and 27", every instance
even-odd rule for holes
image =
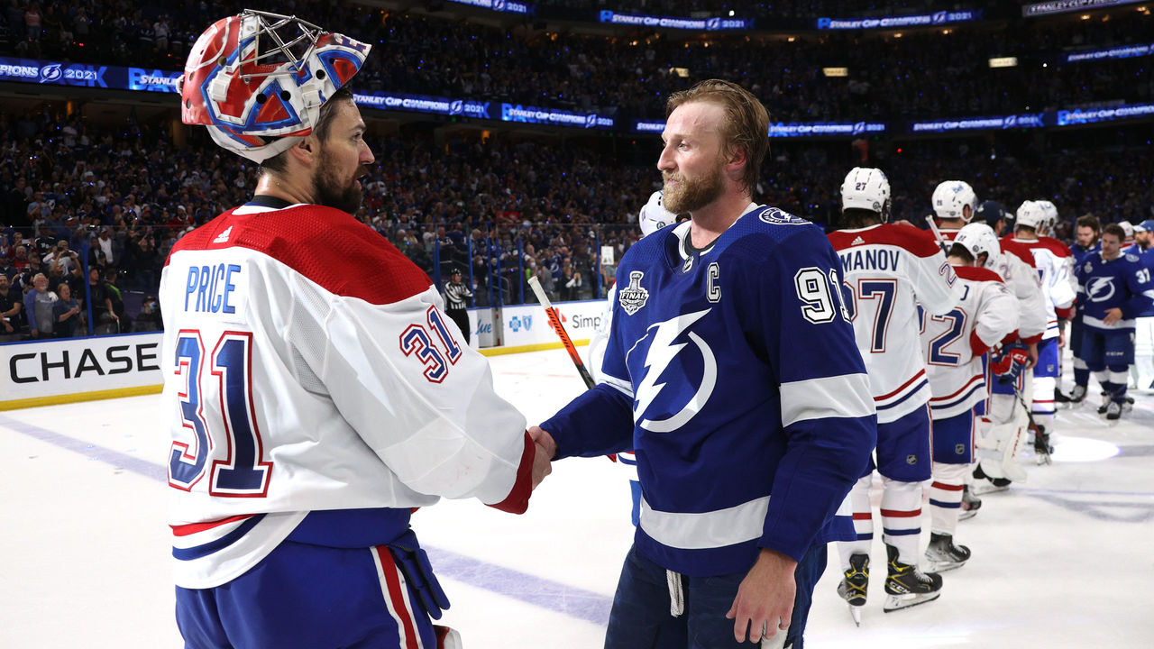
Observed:
[[[917,303],[932,315],[957,303],[957,275],[939,244],[908,225],[830,233],[853,298],[854,337],[865,360],[879,424],[926,405],[930,385],[919,341]]]

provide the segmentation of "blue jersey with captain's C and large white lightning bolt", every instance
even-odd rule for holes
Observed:
[[[625,253],[606,382],[541,427],[560,456],[636,449],[635,544],[662,567],[744,572],[759,547],[801,559],[837,536],[877,438],[840,262],[775,208],[750,204],[705,249],[690,227]]]

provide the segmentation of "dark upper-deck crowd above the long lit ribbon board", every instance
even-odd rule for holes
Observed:
[[[207,2],[194,0],[166,9],[141,8],[128,0],[70,0],[43,9],[35,0],[8,2],[9,36],[7,42],[0,39],[0,54],[172,70],[181,68],[187,49],[204,28],[203,16],[262,5],[212,3],[210,12]],[[832,8],[804,2],[789,6],[815,12]],[[1149,42],[1154,18],[1138,12],[1106,22],[1096,17],[1022,21],[1013,39],[991,23],[975,23],[914,30],[901,38],[811,32],[790,40],[766,33],[700,38],[654,31],[606,38],[534,30],[531,22],[510,30],[306,0],[264,8],[297,12],[323,25],[355,25],[350,35],[375,47],[359,75],[364,89],[580,109],[614,113],[623,120],[660,118],[672,91],[710,77],[740,81],[779,121],[1039,112],[1144,102],[1154,95],[1148,57],[1056,62],[1063,51]],[[772,5],[763,9],[775,10]],[[37,17],[30,20],[30,15]],[[1020,64],[994,69],[988,66],[991,57],[1018,57]],[[846,67],[849,74],[826,77],[823,67]],[[674,68],[689,76],[673,73]]]

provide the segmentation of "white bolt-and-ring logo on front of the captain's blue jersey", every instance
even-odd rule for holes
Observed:
[[[697,313],[687,313],[666,320],[664,322],[658,322],[657,324],[651,324],[646,331],[646,336],[652,331],[652,342],[650,343],[649,351],[645,353],[644,367],[647,368],[645,372],[645,378],[637,386],[634,391],[637,404],[634,408],[634,418],[640,418],[649,406],[653,404],[658,394],[665,388],[665,383],[658,383],[658,379],[666,371],[673,359],[684,349],[689,343],[674,343],[682,333],[684,333],[694,322],[697,322],[707,314],[711,308],[705,311],[698,311]],[[717,385],[717,359],[713,357],[713,350],[710,349],[705,341],[700,336],[690,331],[689,340],[697,349],[702,352],[702,361],[704,370],[702,372],[702,382],[697,388],[697,393],[676,415],[667,419],[643,419],[638,424],[646,431],[652,431],[654,433],[668,433],[675,431],[681,426],[685,425],[690,419],[697,415],[698,411],[705,405],[710,396],[713,394],[713,386]],[[644,338],[643,338],[644,340]],[[638,341],[639,342],[639,341]],[[635,346],[636,349],[636,346]],[[630,350],[632,351],[632,350]]]

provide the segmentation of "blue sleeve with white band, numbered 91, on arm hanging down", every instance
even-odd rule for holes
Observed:
[[[799,226],[749,281],[787,445],[758,545],[801,560],[861,477],[877,417],[841,301],[841,266],[822,232]]]

